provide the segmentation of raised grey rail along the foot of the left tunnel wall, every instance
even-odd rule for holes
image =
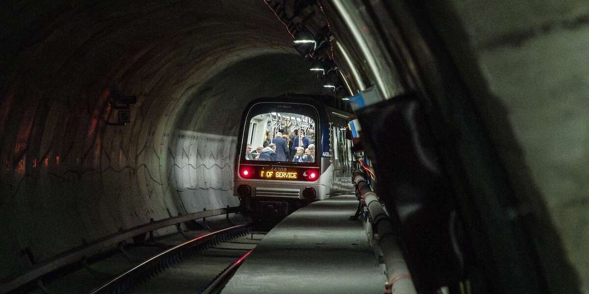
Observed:
[[[209,218],[210,216],[225,215],[229,213],[235,213],[239,211],[239,206],[213,209],[210,211],[201,211],[188,213],[186,215],[174,216],[173,218],[167,218],[157,220],[155,222],[146,223],[145,225],[136,226],[134,228],[121,230],[120,232],[112,235],[105,236],[95,240],[94,242],[82,245],[81,247],[68,250],[67,252],[61,253],[52,259],[40,263],[34,266],[31,270],[26,273],[22,273],[19,276],[9,280],[6,283],[0,285],[0,293],[7,293],[12,290],[18,289],[27,283],[33,282],[44,276],[47,273],[53,272],[54,270],[63,268],[64,266],[71,265],[76,262],[80,262],[88,256],[95,255],[101,252],[102,249],[107,248],[110,245],[114,245],[123,242],[125,239],[133,238],[134,236],[141,235],[143,233],[152,232],[153,230],[165,228],[166,226],[173,226],[177,223],[187,222],[188,220]]]

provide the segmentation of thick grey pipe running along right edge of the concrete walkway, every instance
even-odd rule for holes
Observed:
[[[372,237],[376,240],[385,261],[386,276],[389,279],[385,285],[385,293],[417,294],[401,249],[396,243],[393,220],[380,205],[376,193],[370,189],[362,172],[353,173],[352,179],[356,184],[359,200],[368,208]]]

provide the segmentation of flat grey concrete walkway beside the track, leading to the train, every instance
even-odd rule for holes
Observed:
[[[287,216],[223,293],[382,293],[386,278],[362,220],[349,220],[357,206],[342,195]]]

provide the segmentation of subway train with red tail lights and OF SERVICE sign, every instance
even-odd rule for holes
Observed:
[[[339,185],[349,182],[353,165],[345,135],[350,113],[325,105],[325,99],[284,95],[246,107],[234,172],[234,195],[246,209],[284,215],[353,189]]]

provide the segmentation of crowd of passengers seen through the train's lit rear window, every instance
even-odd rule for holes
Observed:
[[[274,138],[270,138],[270,131],[266,131],[263,146],[252,151],[252,145],[246,146],[246,159],[249,161],[289,161],[315,162],[315,134],[305,135],[303,130],[294,129],[288,135],[280,130]]]

